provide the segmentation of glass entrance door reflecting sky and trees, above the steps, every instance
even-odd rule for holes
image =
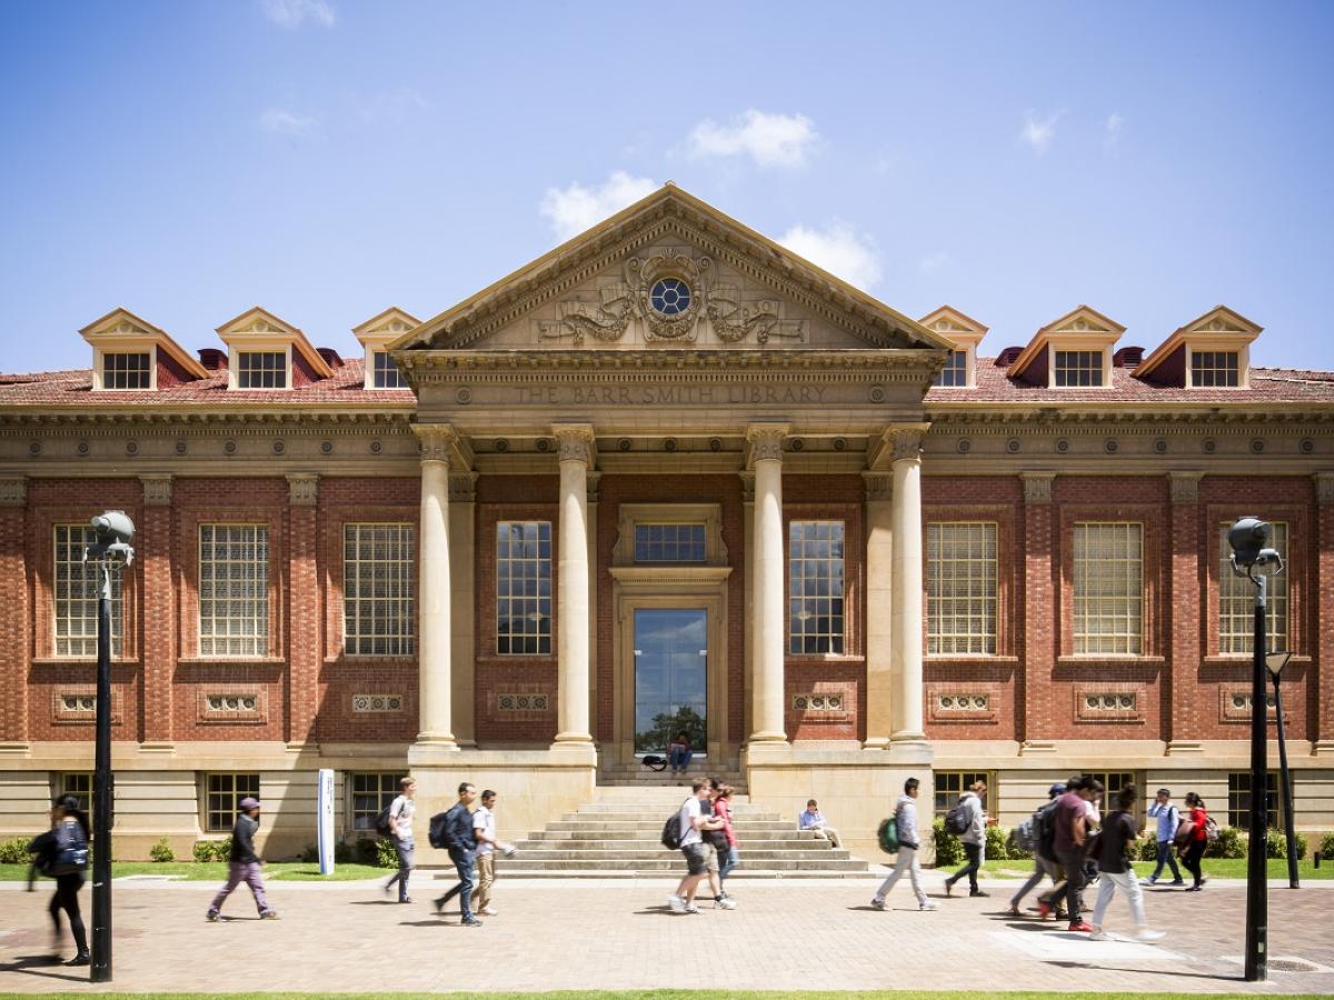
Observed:
[[[708,612],[635,608],[635,752],[666,753],[676,733],[708,744]]]

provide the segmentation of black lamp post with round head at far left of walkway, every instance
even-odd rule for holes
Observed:
[[[107,511],[91,521],[95,540],[84,563],[101,571],[97,592],[97,725],[92,777],[92,964],[93,983],[111,981],[111,575],[135,560],[129,541],[135,523],[124,511]]]

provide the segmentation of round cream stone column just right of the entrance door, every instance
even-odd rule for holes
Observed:
[[[783,439],[787,424],[746,428],[755,467],[752,565],[755,568],[755,664],[750,743],[786,743],[783,729]]]

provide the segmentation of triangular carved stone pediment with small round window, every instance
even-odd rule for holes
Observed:
[[[952,344],[668,184],[390,347],[939,351]]]

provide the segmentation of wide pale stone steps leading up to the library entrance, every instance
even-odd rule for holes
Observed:
[[[500,864],[506,875],[516,877],[634,879],[683,873],[680,852],[668,851],[658,839],[663,821],[688,795],[688,784],[599,785],[591,803],[516,841],[519,853]],[[796,829],[795,819],[754,805],[746,795],[732,796],[732,817],[742,864],[731,877],[874,877],[866,861]]]

